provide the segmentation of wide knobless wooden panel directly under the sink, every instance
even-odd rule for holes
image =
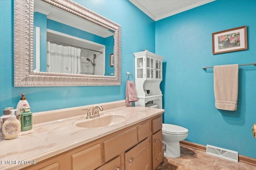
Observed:
[[[127,150],[130,147],[134,146],[136,143],[138,143],[136,127],[124,131],[123,133],[120,133],[119,135],[112,137],[106,141],[103,141],[104,160],[107,162],[124,150]]]

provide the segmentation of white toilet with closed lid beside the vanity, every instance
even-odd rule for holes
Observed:
[[[162,124],[163,143],[166,145],[165,156],[180,157],[180,141],[188,136],[188,129],[171,124]]]

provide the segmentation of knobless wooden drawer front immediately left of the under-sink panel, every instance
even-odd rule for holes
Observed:
[[[72,170],[92,170],[101,165],[101,145],[72,154]]]

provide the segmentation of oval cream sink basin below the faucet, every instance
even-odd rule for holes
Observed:
[[[116,125],[126,121],[126,115],[120,115],[115,113],[106,113],[100,115],[100,117],[92,119],[84,119],[77,122],[76,127],[92,128],[92,127],[105,127],[110,125]]]

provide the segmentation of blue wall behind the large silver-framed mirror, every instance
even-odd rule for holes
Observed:
[[[128,0],[76,0],[76,2],[122,26],[121,86],[14,87],[14,2],[0,0],[0,115],[4,107],[16,107],[21,93],[26,94],[32,112],[125,99],[126,72],[134,75],[133,53],[143,49],[155,52],[154,20]]]

